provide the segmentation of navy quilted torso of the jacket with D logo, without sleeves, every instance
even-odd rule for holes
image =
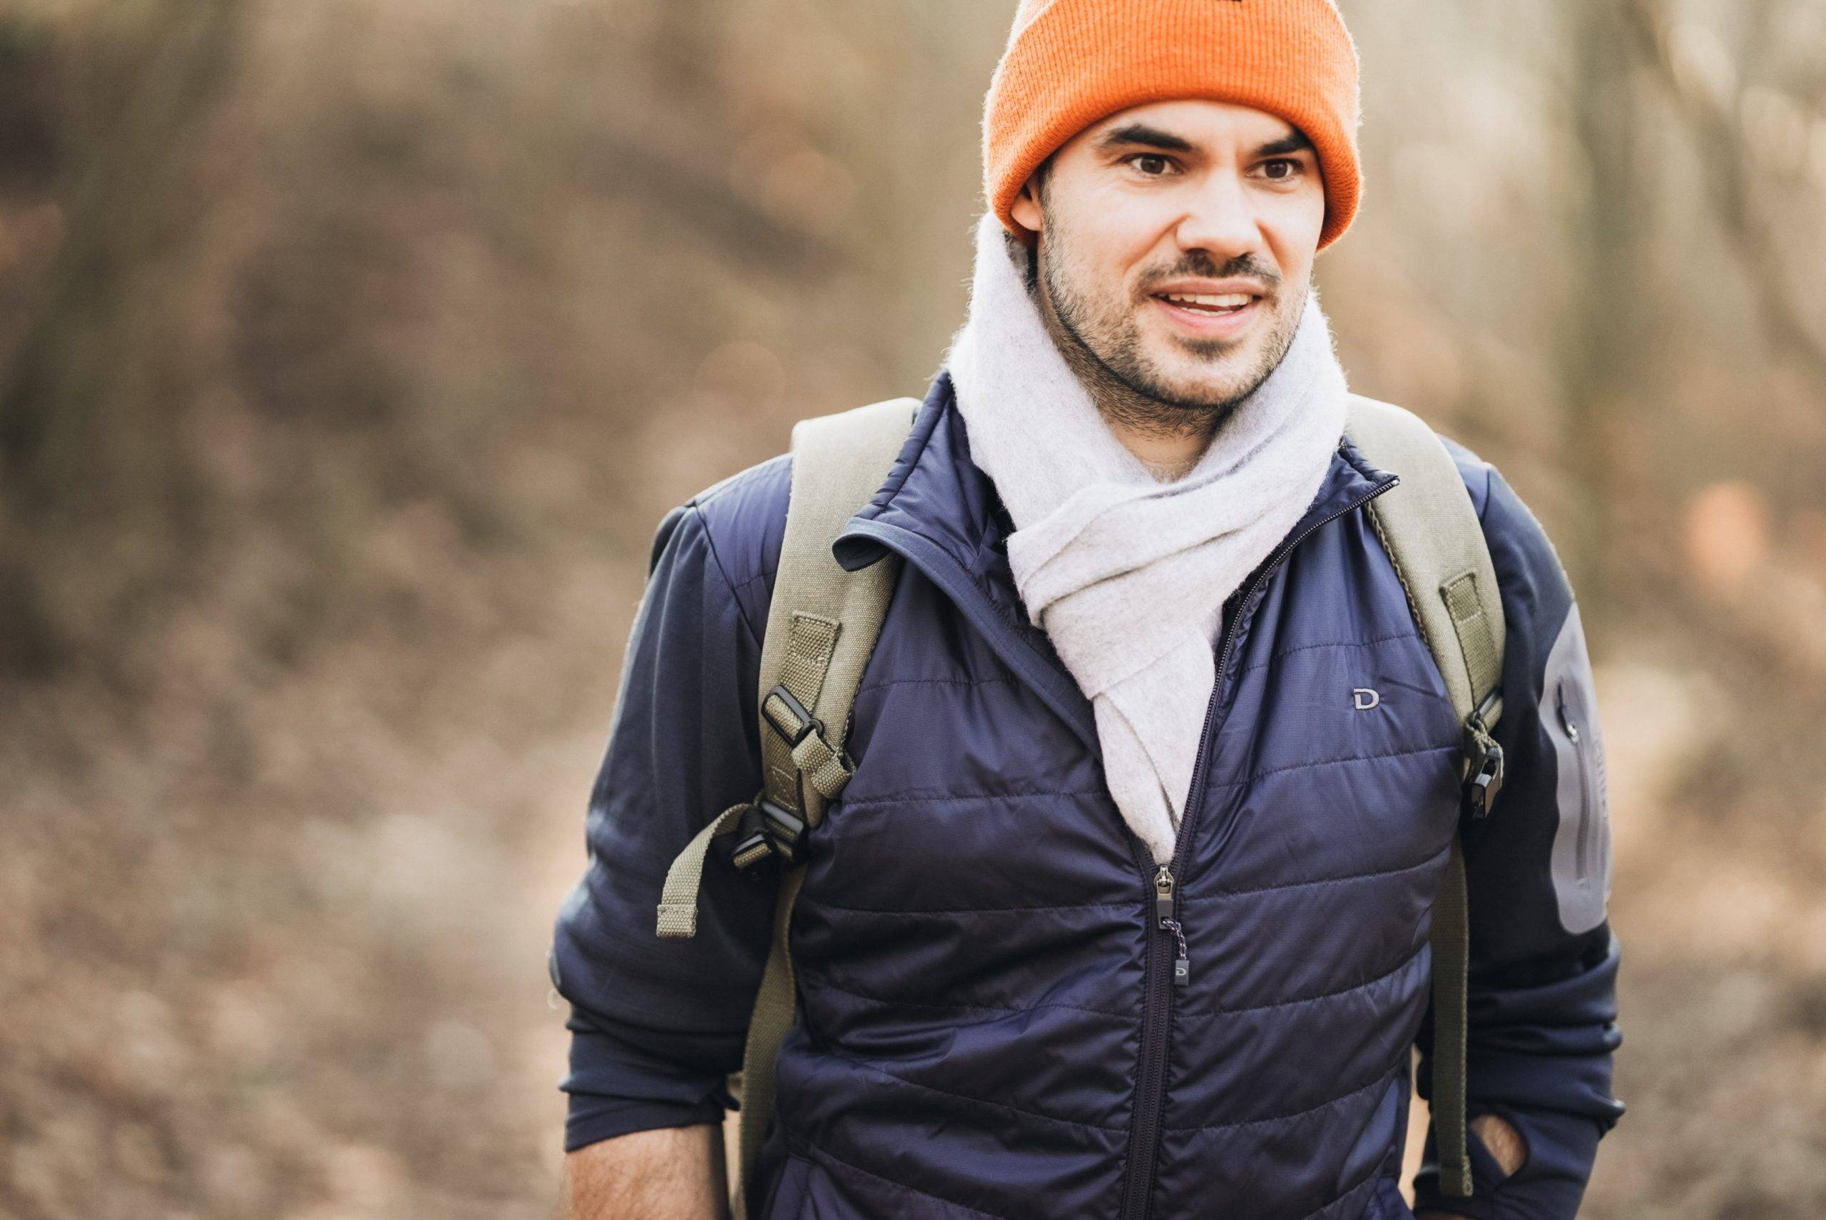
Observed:
[[[933,519],[993,491],[955,415],[922,424],[838,541],[908,575],[798,900],[769,1215],[1362,1215],[1401,1167],[1457,816],[1457,716],[1359,511],[1391,477],[1340,449],[1234,599],[1169,880],[997,513]],[[992,528],[935,530],[966,522]]]

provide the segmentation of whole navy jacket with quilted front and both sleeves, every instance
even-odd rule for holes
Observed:
[[[1463,822],[1470,1112],[1528,1145],[1477,1196],[1572,1216],[1611,1094],[1618,942],[1603,747],[1578,605],[1501,473],[1448,442],[1508,621],[1492,815]],[[772,915],[771,869],[712,851],[698,935],[661,941],[666,866],[760,787],[760,636],[791,458],[665,515],[557,917],[566,1147],[719,1121]],[[1324,1220],[1399,1196],[1410,1052],[1430,1045],[1432,900],[1457,716],[1362,506],[1393,477],[1348,440],[1300,524],[1227,603],[1194,798],[1154,871],[1101,784],[1088,701],[1026,623],[1010,522],[940,374],[838,539],[904,561],[849,736],[858,769],[807,842],[754,1215]],[[1377,690],[1373,707],[1353,692]],[[1430,1089],[1422,1054],[1422,1096]]]

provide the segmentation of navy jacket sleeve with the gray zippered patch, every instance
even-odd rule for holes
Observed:
[[[1479,510],[1506,619],[1505,778],[1483,820],[1463,820],[1470,891],[1466,1114],[1508,1120],[1527,1145],[1503,1176],[1470,1134],[1474,1196],[1439,1194],[1433,1131],[1415,1211],[1481,1220],[1572,1220],[1598,1140],[1623,1114],[1611,1094],[1618,941],[1607,919],[1611,824],[1603,738],[1578,603],[1547,533],[1503,475],[1448,442]],[[1433,1014],[1417,1046],[1432,1099]]]

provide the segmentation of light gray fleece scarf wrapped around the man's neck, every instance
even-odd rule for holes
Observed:
[[[1275,371],[1191,473],[1158,482],[1065,363],[1023,263],[984,214],[946,367],[971,460],[1015,524],[1015,588],[1092,701],[1116,805],[1163,864],[1192,787],[1223,603],[1318,493],[1344,433],[1344,371],[1313,290]]]

